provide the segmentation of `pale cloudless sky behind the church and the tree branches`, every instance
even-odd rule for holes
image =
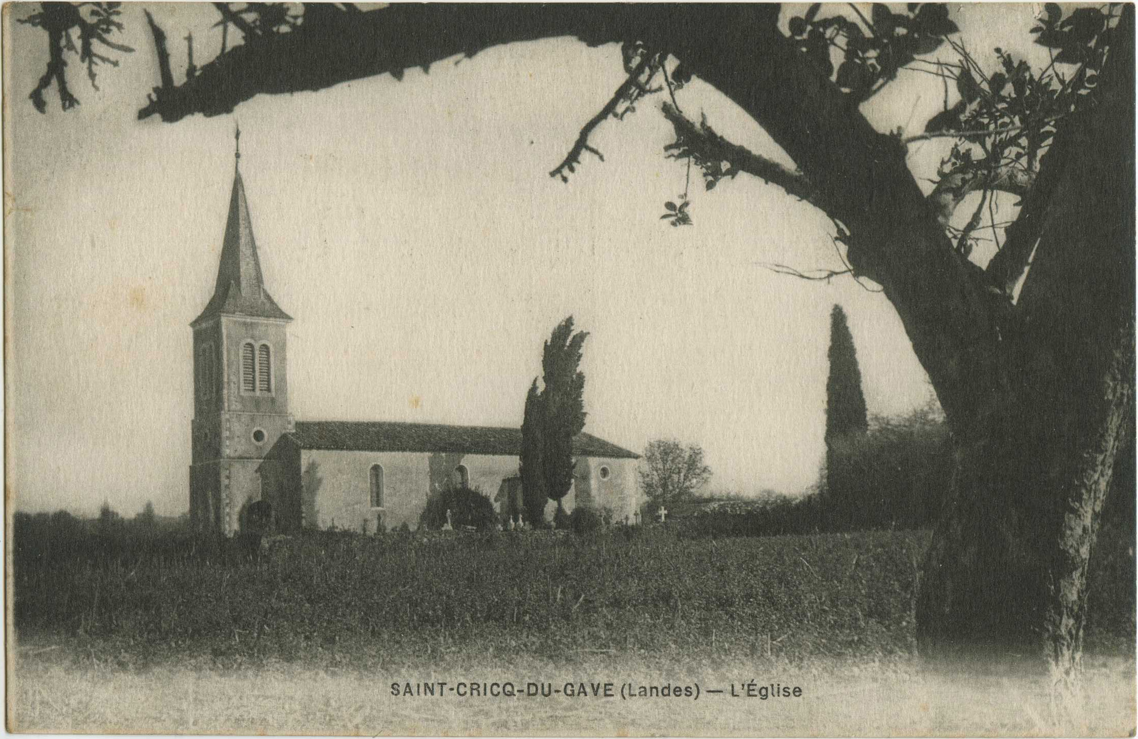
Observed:
[[[151,10],[175,79],[187,31],[198,64],[216,55],[212,7]],[[1038,10],[951,15],[986,63],[996,46],[1038,61],[1026,33]],[[542,342],[571,314],[589,332],[587,432],[635,451],[653,438],[699,444],[710,491],[797,494],[823,457],[834,304],[849,315],[871,413],[933,399],[884,296],[764,266],[841,268],[833,227],[811,206],[745,175],[711,192],[693,176],[694,224],[659,219],[685,181],[684,164],[662,153],[674,138],[662,100],[596,130],[604,162],[586,155],[568,183],[549,176],[621,82],[615,46],[510,44],[402,81],[259,96],[233,115],[166,124],[137,120],[158,75],[141,8],[127,3],[124,19],[137,51],[99,68],[98,91],[73,57],[81,105],[60,110],[52,87],[44,115],[27,95],[47,36],[6,30],[7,450],[18,509],[187,510],[189,322],[216,277],[234,122],[266,286],[295,318],[298,420],[518,426]],[[863,112],[879,130],[917,133],[942,95],[937,79],[905,73]],[[698,80],[678,100],[792,164]],[[948,143],[910,147],[918,180],[934,176]]]

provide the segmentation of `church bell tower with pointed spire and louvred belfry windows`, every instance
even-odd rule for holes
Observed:
[[[281,434],[288,410],[286,328],[292,320],[265,289],[240,162],[237,129],[233,189],[213,297],[193,330],[190,519],[233,534],[242,509],[261,500],[258,467]]]

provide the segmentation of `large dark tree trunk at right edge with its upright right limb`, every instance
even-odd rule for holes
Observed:
[[[923,572],[926,656],[1078,668],[1090,552],[1135,421],[1132,28],[1128,10],[1097,105],[1048,154],[1063,172],[1003,342],[1008,379],[957,434]]]

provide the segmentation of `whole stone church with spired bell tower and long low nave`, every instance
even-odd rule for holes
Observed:
[[[240,132],[238,132],[238,143]],[[446,485],[480,490],[505,520],[520,509],[520,428],[395,421],[297,421],[289,413],[286,327],[264,285],[237,149],[213,296],[193,331],[190,518],[232,535],[253,503],[274,531],[415,528]],[[632,519],[638,454],[591,434],[574,440],[562,506]],[[554,508],[550,501],[547,511]]]

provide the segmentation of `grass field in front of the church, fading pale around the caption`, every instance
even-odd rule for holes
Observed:
[[[914,655],[925,532],[686,539],[327,534],[258,560],[17,541],[10,726],[335,733],[1125,733],[1132,613],[1085,695],[934,675]],[[1124,589],[1123,589],[1124,590]],[[1127,630],[1130,630],[1129,632]],[[748,680],[800,700],[414,699],[437,680]],[[1022,707],[1021,707],[1022,706]],[[1072,708],[1073,706],[1073,708]],[[900,713],[898,713],[900,711]]]

